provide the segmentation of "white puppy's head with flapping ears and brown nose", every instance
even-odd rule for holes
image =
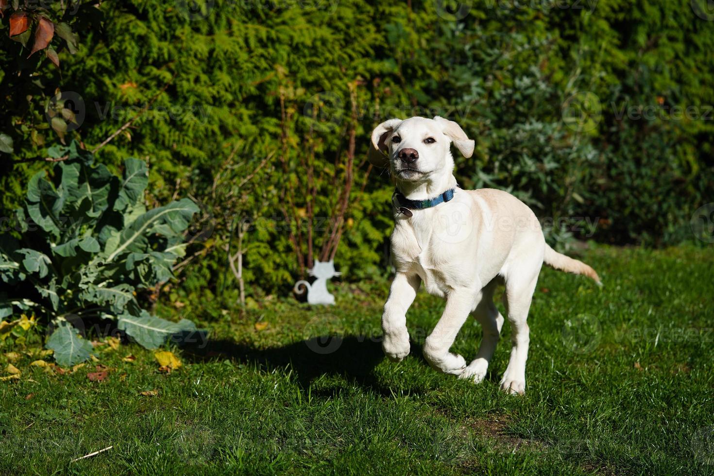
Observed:
[[[372,131],[369,157],[374,165],[389,167],[396,181],[426,181],[453,170],[451,143],[471,157],[474,143],[454,121],[439,116],[389,119]]]

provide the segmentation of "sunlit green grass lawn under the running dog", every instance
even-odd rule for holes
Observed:
[[[187,305],[211,340],[174,349],[183,366],[170,374],[134,344],[62,375],[15,360],[21,377],[0,382],[0,473],[714,474],[714,249],[601,247],[585,260],[604,288],[541,273],[525,396],[498,390],[508,324],[480,385],[428,367],[421,345],[443,303],[423,293],[411,355],[384,359],[386,282],[331,284],[331,308],[273,299],[245,318]],[[480,340],[469,320],[453,350],[470,361]],[[0,365],[7,375],[6,355]],[[95,365],[106,380],[88,380]]]

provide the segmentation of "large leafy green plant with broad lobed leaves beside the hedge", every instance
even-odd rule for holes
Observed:
[[[175,333],[196,330],[144,310],[136,290],[169,280],[184,254],[183,232],[198,207],[184,198],[147,211],[146,163],[129,158],[115,176],[94,165],[78,143],[55,146],[52,180],[30,180],[16,211],[19,239],[0,235],[0,318],[33,313],[54,326],[47,341],[56,360],[71,365],[89,357],[91,345],[71,324],[88,318],[116,321],[147,348]]]

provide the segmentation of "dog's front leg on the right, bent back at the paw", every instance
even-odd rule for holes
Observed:
[[[466,360],[448,350],[480,294],[480,291],[475,292],[472,289],[456,289],[448,293],[446,309],[424,343],[424,357],[434,369],[454,375],[463,373]]]

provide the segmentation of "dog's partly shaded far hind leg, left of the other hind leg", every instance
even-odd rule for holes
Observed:
[[[493,303],[493,292],[496,290],[498,281],[492,280],[481,291],[483,297],[476,305],[476,310],[473,311],[473,317],[481,323],[483,330],[483,338],[481,346],[478,348],[478,354],[466,370],[460,375],[460,378],[471,378],[473,383],[481,383],[486,377],[488,363],[491,362],[493,351],[496,350],[496,344],[501,337],[501,328],[503,327],[503,316],[498,312],[496,304]]]

